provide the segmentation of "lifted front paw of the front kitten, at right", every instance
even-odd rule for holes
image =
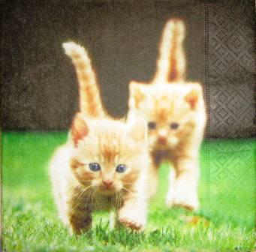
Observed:
[[[131,210],[132,211],[132,210]],[[146,224],[146,218],[139,215],[137,212],[125,212],[120,211],[119,212],[119,222],[122,223],[124,226],[134,229],[134,230],[140,230],[145,227]]]

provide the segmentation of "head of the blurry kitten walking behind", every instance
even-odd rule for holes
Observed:
[[[164,150],[178,145],[196,124],[202,101],[203,90],[198,83],[130,83],[129,113],[146,119],[152,148]]]

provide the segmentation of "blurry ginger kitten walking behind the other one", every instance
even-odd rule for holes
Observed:
[[[158,167],[167,160],[170,169],[166,203],[188,209],[199,207],[199,151],[206,124],[203,89],[185,82],[185,34],[181,20],[170,20],[161,39],[157,71],[151,83],[130,83],[128,119],[141,116],[148,121],[149,147],[157,187]]]

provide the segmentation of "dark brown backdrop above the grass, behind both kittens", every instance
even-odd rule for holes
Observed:
[[[68,129],[78,108],[68,40],[88,49],[110,115],[125,115],[129,81],[151,80],[162,28],[179,17],[187,80],[206,88],[208,136],[254,133],[254,1],[2,1],[1,9],[3,130]]]

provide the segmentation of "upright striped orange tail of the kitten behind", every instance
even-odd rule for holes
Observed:
[[[184,37],[182,20],[169,20],[161,37],[154,83],[176,83],[185,79]]]

